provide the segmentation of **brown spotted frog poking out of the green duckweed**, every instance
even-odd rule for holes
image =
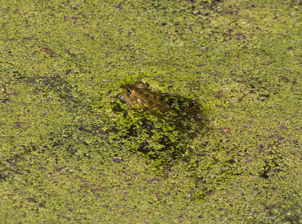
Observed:
[[[126,84],[122,87],[121,99],[126,101],[134,110],[165,113],[171,109],[163,101],[159,93],[153,93],[146,84],[138,81],[134,84]]]

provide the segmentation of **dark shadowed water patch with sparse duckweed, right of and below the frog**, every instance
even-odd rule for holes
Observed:
[[[147,140],[143,140],[136,150],[149,159],[164,157],[165,161],[173,161],[182,157],[187,150],[187,144],[191,144],[197,136],[205,134],[203,127],[208,119],[194,100],[162,95],[162,99],[171,110],[164,114],[156,114],[155,119],[152,119],[150,112],[137,112],[142,115],[140,120],[142,125],[140,128],[136,128],[135,124],[131,125],[123,137],[128,139],[147,134],[148,139],[156,139],[162,148],[155,149]],[[126,113],[124,115],[126,116]],[[162,122],[160,128],[158,121]]]

